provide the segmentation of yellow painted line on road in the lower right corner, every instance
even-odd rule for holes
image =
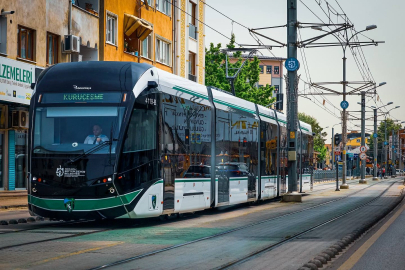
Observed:
[[[371,236],[352,256],[342,264],[338,270],[349,270],[363,257],[367,250],[380,238],[380,236],[391,226],[391,224],[405,210],[405,204],[373,235]]]

